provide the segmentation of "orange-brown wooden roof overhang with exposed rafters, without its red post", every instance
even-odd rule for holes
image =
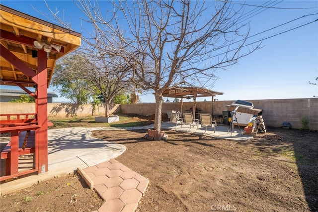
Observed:
[[[56,60],[80,46],[81,34],[0,5],[0,84],[33,87],[38,70],[35,40],[62,46],[47,54],[47,85],[50,85]],[[33,53],[33,55],[32,55]],[[13,61],[21,62],[12,65]],[[28,69],[25,68],[25,65]],[[24,72],[21,72],[24,69]]]

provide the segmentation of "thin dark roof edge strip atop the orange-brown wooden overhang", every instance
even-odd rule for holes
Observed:
[[[12,13],[12,14],[18,15],[18,16],[23,17],[23,18],[27,18],[27,19],[32,20],[34,22],[37,22],[37,23],[40,23],[40,24],[43,24],[43,25],[46,25],[46,26],[61,30],[63,32],[75,35],[77,37],[81,37],[81,33],[79,33],[79,32],[72,31],[72,30],[64,28],[62,26],[58,26],[58,25],[55,25],[55,24],[50,23],[48,21],[45,21],[45,20],[39,19],[37,17],[28,15],[26,13],[17,11],[15,9],[10,8],[10,7],[4,6],[3,4],[0,4],[0,9],[3,10],[3,11],[6,11],[6,12]]]

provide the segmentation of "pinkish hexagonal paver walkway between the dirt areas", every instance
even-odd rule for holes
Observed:
[[[83,169],[105,203],[98,212],[134,212],[149,180],[115,159]]]

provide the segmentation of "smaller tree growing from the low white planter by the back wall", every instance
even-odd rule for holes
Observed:
[[[93,96],[101,96],[108,117],[114,98],[128,91],[131,84],[127,84],[127,68],[119,65],[121,58],[101,57],[98,50],[83,46],[75,54],[63,57],[56,65],[51,85],[61,96],[77,104],[86,104]]]

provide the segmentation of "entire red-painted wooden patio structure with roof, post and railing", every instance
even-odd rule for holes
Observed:
[[[0,133],[11,137],[1,152],[3,181],[48,171],[47,88],[56,60],[80,46],[81,34],[3,5],[0,11],[0,84],[18,86],[35,99],[35,113],[0,114]],[[21,171],[19,156],[30,153],[33,168]]]

